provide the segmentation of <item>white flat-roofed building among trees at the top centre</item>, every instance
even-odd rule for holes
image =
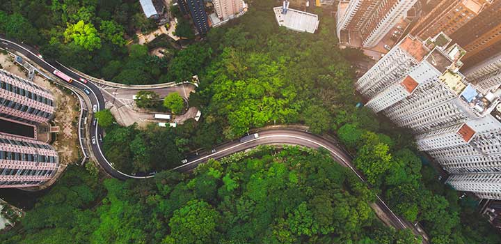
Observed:
[[[287,12],[284,14],[282,10],[282,7],[273,8],[279,26],[285,26],[285,28],[293,31],[306,31],[309,33],[315,33],[318,29],[318,15],[292,8],[287,8]]]

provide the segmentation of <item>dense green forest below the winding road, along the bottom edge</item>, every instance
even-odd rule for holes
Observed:
[[[418,243],[326,151],[263,147],[140,184],[89,172],[67,169],[2,243]]]

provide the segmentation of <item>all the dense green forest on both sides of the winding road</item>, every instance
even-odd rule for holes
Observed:
[[[152,28],[137,1],[2,1],[0,32],[38,45],[46,59],[113,82],[200,77],[189,100],[202,111],[199,122],[123,128],[102,112],[104,151],[120,170],[160,172],[189,151],[210,150],[251,128],[301,123],[311,132],[337,136],[370,190],[323,153],[299,148],[211,162],[192,176],[163,171],[154,181],[102,183],[95,171],[88,176],[71,167],[22,220],[22,229],[4,238],[10,243],[412,243],[408,233],[374,220],[367,201],[376,192],[397,214],[419,221],[433,244],[501,243],[475,211],[475,201],[459,199],[422,163],[411,135],[355,107],[360,98],[351,62],[364,56],[337,48],[333,18],[316,9],[319,31],[296,33],[278,27],[272,6],[278,2],[253,1],[244,16],[212,29],[205,40],[170,49],[162,59],[148,51],[170,45],[163,39],[125,45],[136,30]],[[40,15],[29,15],[37,8]],[[200,233],[180,236],[190,231]]]

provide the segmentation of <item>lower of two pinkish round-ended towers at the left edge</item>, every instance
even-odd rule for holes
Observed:
[[[58,154],[49,144],[0,133],[0,188],[41,185],[58,167]]]

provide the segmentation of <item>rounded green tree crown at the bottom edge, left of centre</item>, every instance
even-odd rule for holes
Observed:
[[[218,213],[205,201],[189,201],[170,218],[170,236],[166,243],[211,243],[217,219]]]

